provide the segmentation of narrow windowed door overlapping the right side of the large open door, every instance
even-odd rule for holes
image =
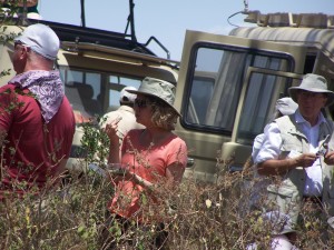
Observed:
[[[248,67],[232,139],[222,147],[222,159],[229,162],[229,171],[243,170],[250,161],[253,140],[274,119],[276,100],[286,97],[286,88],[298,86],[302,78],[299,73]]]

